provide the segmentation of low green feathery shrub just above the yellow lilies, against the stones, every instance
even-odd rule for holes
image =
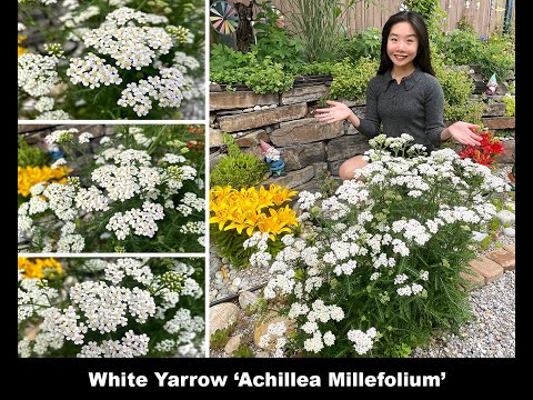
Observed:
[[[244,154],[231,134],[224,133],[228,154],[222,157],[210,174],[210,187],[231,186],[235,189],[250,188],[260,183],[269,167],[253,154]]]

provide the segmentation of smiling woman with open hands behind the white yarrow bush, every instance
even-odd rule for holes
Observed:
[[[315,118],[324,122],[348,119],[365,137],[383,132],[388,137],[409,133],[431,152],[450,138],[462,144],[480,144],[481,137],[471,129],[480,126],[455,122],[445,128],[444,92],[431,66],[428,28],[422,17],[401,11],[383,27],[381,62],[378,74],[366,89],[365,119],[360,119],[344,103],[328,101],[330,108],[316,109]],[[366,161],[355,156],[339,169],[341,179],[353,179],[353,172]]]

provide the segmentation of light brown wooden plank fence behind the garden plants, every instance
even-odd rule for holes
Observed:
[[[242,0],[241,0],[242,1]],[[334,1],[334,0],[331,0]],[[343,0],[344,3],[346,0]],[[446,18],[441,27],[444,31],[451,31],[457,27],[457,22],[465,18],[475,28],[480,36],[489,37],[493,31],[502,31],[505,18],[505,4],[507,0],[440,0],[441,9]],[[512,26],[514,27],[514,2],[512,11]],[[283,12],[289,11],[288,0],[273,0],[273,3]],[[370,3],[366,6],[366,3]],[[388,18],[400,10],[401,0],[373,0],[358,1],[355,6],[342,16],[343,23],[350,32],[375,27],[382,29]],[[292,11],[291,11],[292,12]],[[291,12],[285,13],[290,26]]]

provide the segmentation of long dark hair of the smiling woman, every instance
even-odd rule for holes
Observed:
[[[428,37],[428,28],[425,27],[424,20],[422,17],[414,11],[400,11],[394,16],[389,18],[383,27],[383,32],[381,37],[381,61],[380,68],[378,69],[378,74],[383,74],[388,70],[392,70],[394,66],[386,54],[386,42],[389,41],[389,34],[391,29],[398,22],[409,22],[413,27],[416,38],[419,39],[419,50],[418,54],[413,60],[415,67],[420,67],[423,72],[435,76],[433,67],[431,67],[431,54],[430,54],[430,39]]]

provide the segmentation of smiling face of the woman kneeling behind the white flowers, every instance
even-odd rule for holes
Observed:
[[[419,50],[419,39],[409,22],[398,22],[391,28],[386,41],[386,54],[395,69],[414,68],[413,60]]]

